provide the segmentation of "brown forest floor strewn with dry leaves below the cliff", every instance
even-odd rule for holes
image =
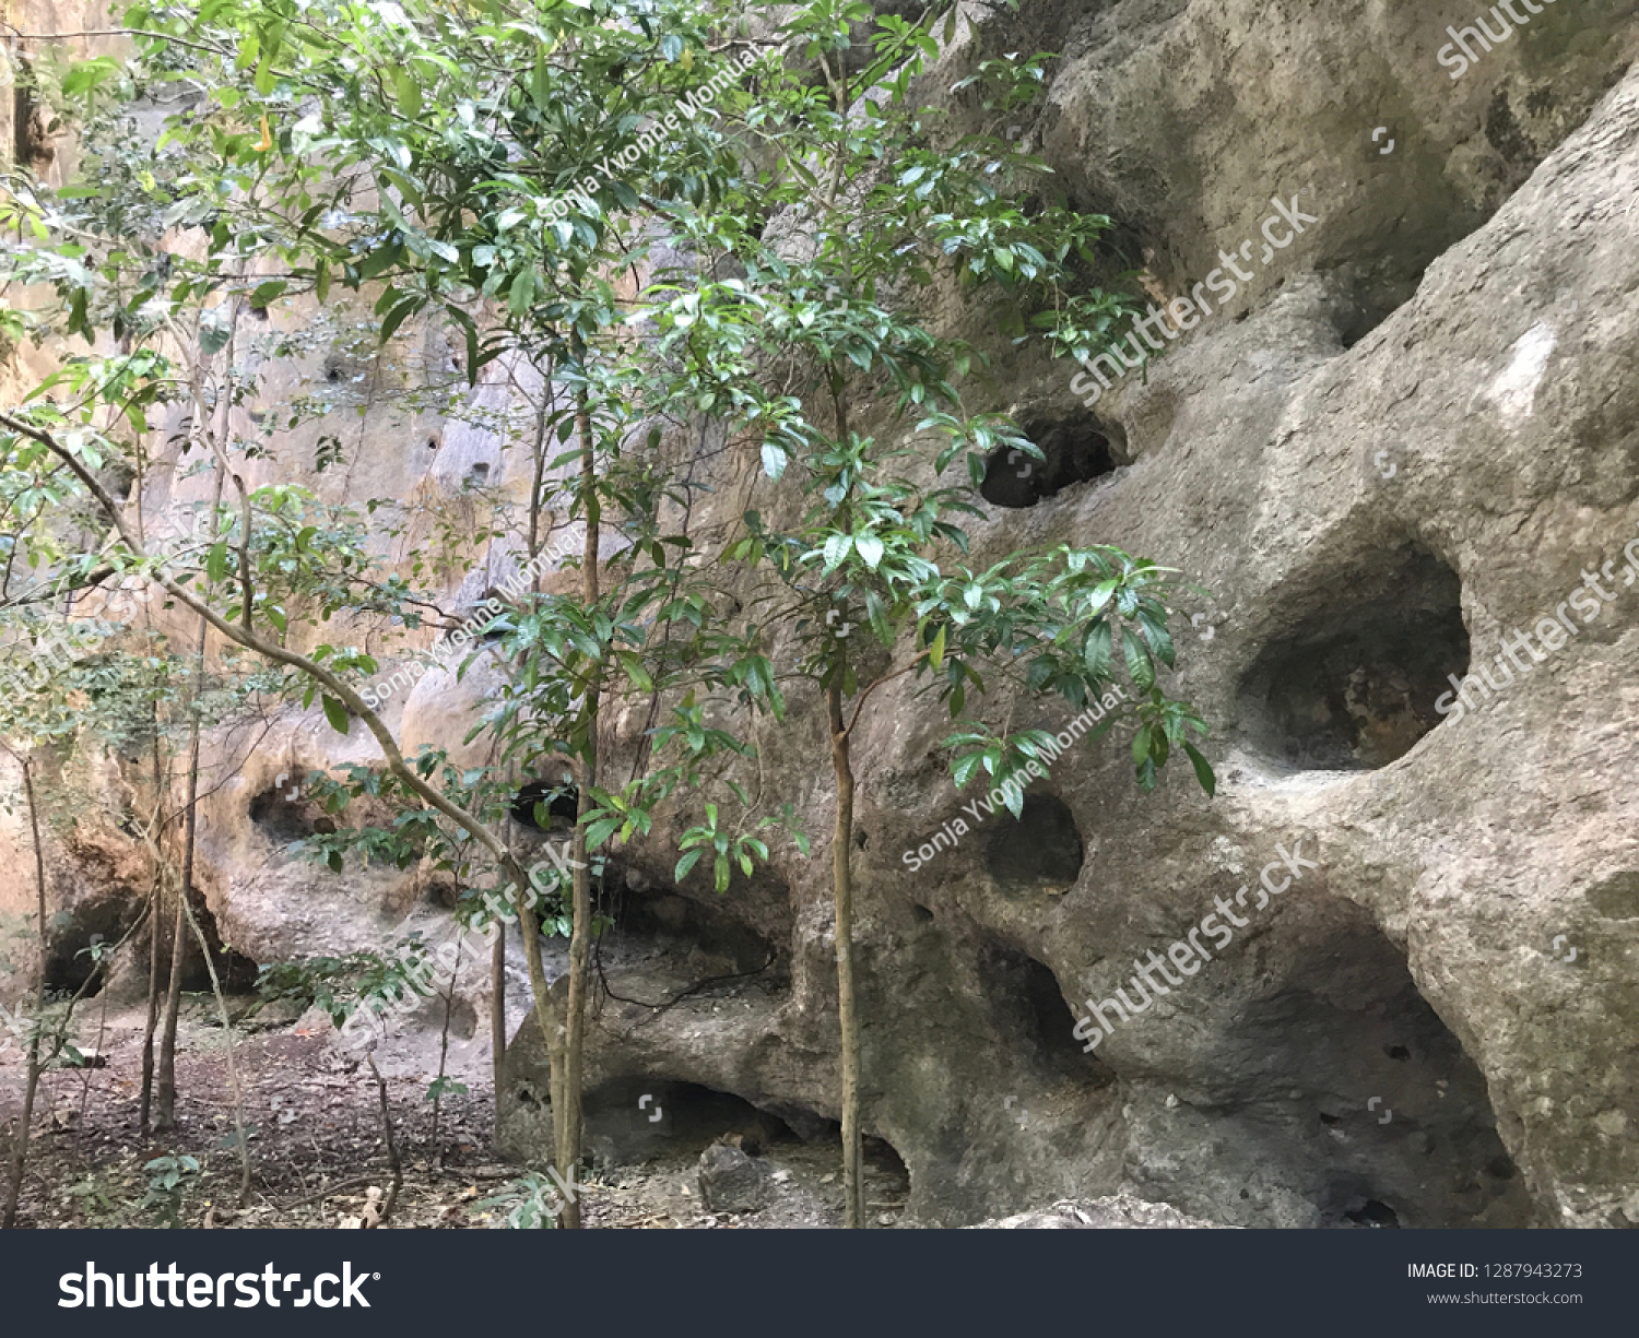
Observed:
[[[251,1192],[241,1207],[233,1081],[213,1007],[210,999],[185,1001],[177,1127],[169,1133],[144,1138],[139,1132],[141,1010],[95,1019],[97,1068],[56,1069],[43,1078],[20,1227],[341,1227],[359,1218],[372,1186],[388,1189],[380,1094],[369,1066],[338,1053],[326,1024],[236,1025],[233,1058],[251,1150]],[[490,1146],[492,1084],[480,1074],[459,1076],[469,1091],[444,1096],[436,1135],[426,1096],[434,1074],[387,1076],[403,1168],[388,1227],[506,1227],[529,1194],[529,1168],[497,1159]],[[15,1123],[21,1096],[23,1066],[13,1046],[0,1055],[0,1128]],[[701,1204],[695,1169],[703,1146],[679,1148],[644,1164],[582,1171],[585,1225],[842,1225],[841,1146],[834,1137],[767,1145],[762,1155],[772,1169],[774,1202],[738,1217]],[[185,1171],[175,1191],[156,1187],[164,1168],[149,1169],[149,1163],[184,1156],[193,1158],[198,1171]],[[906,1194],[903,1171],[867,1153],[872,1225],[897,1225]]]

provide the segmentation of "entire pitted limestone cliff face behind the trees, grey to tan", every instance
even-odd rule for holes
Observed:
[[[993,354],[995,401],[972,408],[1051,444],[1051,480],[997,462],[974,560],[1108,542],[1201,586],[1174,694],[1213,724],[1219,786],[1206,799],[1174,766],[1139,794],[1116,734],[1072,740],[1021,819],[970,811],[942,711],[915,680],[872,698],[854,745],[864,1123],[903,1159],[916,1220],[1067,1200],[1049,1215],[1082,1225],[1103,1220],[1093,1204],[1133,1225],[1639,1225],[1636,5],[1547,7],[1457,80],[1439,52],[1478,5],[1346,8],[1026,0],[929,80],[939,97],[980,44],[1064,51],[1019,138],[1111,215],[1157,300],[1221,280],[1226,255],[1251,278],[1208,288],[1169,355],[1108,388],[936,300]],[[1301,233],[1264,231],[1275,200]],[[400,362],[447,362],[433,334],[405,339]],[[338,393],[398,375],[388,357],[279,375],[329,372]],[[500,383],[484,395],[505,406]],[[403,570],[495,514],[469,483],[513,501],[528,483],[470,424],[388,406],[362,424],[346,478],[316,468],[315,429],[247,481],[423,508],[382,539]],[[700,534],[788,504],[720,444]],[[159,511],[208,488],[154,486]],[[515,552],[449,565],[446,603],[480,599]],[[431,639],[356,631],[384,676]],[[479,765],[462,740],[498,678],[482,660],[459,681],[406,676],[385,712],[405,752]],[[1052,732],[1074,714],[990,707]],[[615,771],[649,724],[620,714]],[[361,735],[315,707],[211,744],[200,884],[257,961],[443,917],[426,871],[334,878],[285,850],[318,820],[292,778],[377,763]],[[815,858],[780,847],[721,897],[698,871],[679,886],[697,816],[672,807],[611,861],[587,1056],[598,1156],[721,1132],[747,1105],[834,1133],[820,704],[793,698],[762,775],[739,780],[795,804]],[[5,868],[25,870],[26,832],[5,822]],[[56,860],[59,901],[139,868],[102,819]],[[26,891],[0,879],[0,911],[25,914]],[[474,1017],[482,974],[462,986]],[[502,1145],[538,1156],[549,1084],[516,963],[508,992]]]

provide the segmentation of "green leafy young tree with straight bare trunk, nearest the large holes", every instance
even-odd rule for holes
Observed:
[[[1172,750],[1183,748],[1201,784],[1213,786],[1187,739],[1205,734],[1205,724],[1162,685],[1162,668],[1174,663],[1169,572],[1110,547],[1013,554],[982,570],[964,562],[969,534],[959,522],[980,514],[970,486],[987,459],[1042,454],[1005,418],[964,411],[956,382],[975,368],[977,354],[916,314],[918,290],[954,292],[1019,339],[1041,331],[1083,352],[1108,337],[1128,303],[1078,278],[1096,260],[1092,247],[1108,219],[1028,208],[1021,197],[1041,187],[1044,165],[995,134],[959,133],[929,110],[916,79],[939,52],[936,21],[872,18],[864,3],[813,3],[787,20],[803,59],[759,87],[747,116],[777,156],[764,156],[723,208],[690,219],[698,251],[733,257],[734,272],[679,282],[661,318],[661,349],[701,408],[728,418],[731,432],[754,432],[769,478],[795,481],[806,499],[797,514],[785,508],[783,524],[746,513],[744,536],[724,557],[772,572],[785,593],[759,598],[759,622],[770,631],[752,635],[741,655],[760,652],[757,662],[767,663],[795,627],[795,676],[824,699],[838,798],[831,861],[844,1189],[854,1227],[864,1225],[864,1191],[852,740],[870,696],[916,675],[952,717],[964,717],[970,694],[1011,680],[1080,709],[1124,675],[1136,689],[1128,721],[1137,783],[1152,788]],[[862,28],[869,52],[856,61]],[[813,67],[821,84],[805,77]],[[998,59],[982,62],[957,92],[978,85],[982,108],[1000,120],[1039,82],[1041,57]],[[767,228],[770,215],[788,226]],[[780,380],[801,391],[770,390]],[[916,445],[892,449],[860,431],[860,405],[883,400],[893,408],[882,426],[911,427]],[[970,486],[941,486],[957,460]],[[849,639],[856,621],[875,653]],[[747,681],[779,709],[772,680]],[[1039,732],[1010,735],[974,717],[947,742],[959,784],[980,770],[1010,776],[1051,747]],[[1023,788],[1006,802],[1018,814]]]

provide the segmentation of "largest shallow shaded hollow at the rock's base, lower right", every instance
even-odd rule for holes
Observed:
[[[1242,1125],[1247,1164],[1311,1202],[1321,1227],[1531,1225],[1485,1078],[1370,915],[1326,893],[1283,899],[1277,942],[1278,983],[1213,1042],[1214,1102],[1259,1112],[1255,1130]],[[1274,1105],[1290,1114],[1272,1119]]]

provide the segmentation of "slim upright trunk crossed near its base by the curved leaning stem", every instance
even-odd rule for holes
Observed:
[[[597,462],[593,459],[592,414],[585,390],[577,391],[575,432],[580,437],[580,493],[585,508],[587,539],[580,557],[580,596],[595,608],[598,588],[598,536],[602,531],[597,498]],[[592,961],[592,868],[587,863],[585,816],[593,807],[592,789],[598,783],[598,724],[602,693],[597,673],[587,688],[587,747],[580,762],[579,807],[574,830],[574,909],[569,935],[569,1001],[564,1007],[564,1081],[562,1105],[552,1107],[552,1130],[557,1135],[557,1169],[570,1179],[580,1164],[582,1117],[580,1087],[587,1046],[587,976]],[[572,1179],[570,1179],[572,1182]],[[580,1225],[580,1202],[564,1205],[561,1227]]]

